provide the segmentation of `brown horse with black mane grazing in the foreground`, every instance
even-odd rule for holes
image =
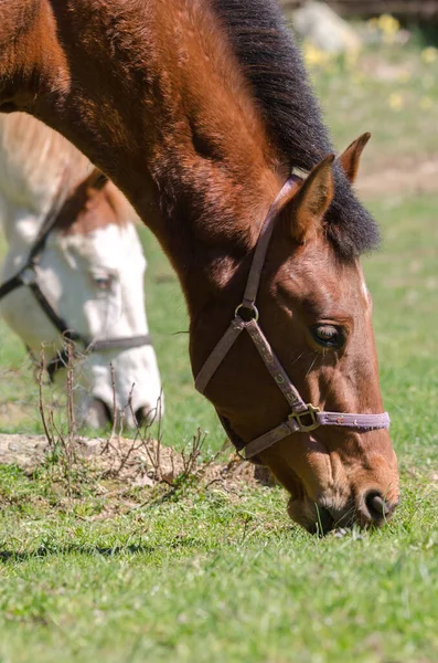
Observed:
[[[261,436],[291,517],[310,532],[385,522],[397,464],[359,263],[378,233],[349,182],[367,137],[333,162],[275,0],[2,0],[1,19],[0,109],[64,134],[157,234],[193,372],[238,446]],[[310,175],[284,187],[292,168]],[[238,326],[252,334],[231,338]]]

